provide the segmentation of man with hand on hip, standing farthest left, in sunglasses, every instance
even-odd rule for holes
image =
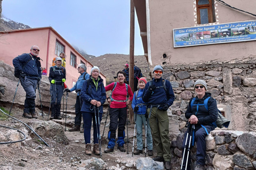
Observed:
[[[26,118],[37,118],[35,112],[36,87],[42,78],[41,62],[39,61],[40,58],[37,57],[39,51],[39,47],[34,45],[30,48],[30,53],[19,55],[12,61],[14,74],[17,72],[15,77],[20,78],[21,86],[26,92],[22,115]]]

